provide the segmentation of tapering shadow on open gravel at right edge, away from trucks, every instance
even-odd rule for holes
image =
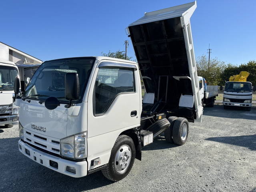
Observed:
[[[230,137],[211,137],[206,140],[221,142],[241,147],[247,147],[250,150],[256,150],[256,134],[255,135],[242,135]]]

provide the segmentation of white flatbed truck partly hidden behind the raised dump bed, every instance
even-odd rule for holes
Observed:
[[[199,92],[202,106],[214,107],[214,101],[218,96],[218,86],[207,85],[205,78],[198,76]]]

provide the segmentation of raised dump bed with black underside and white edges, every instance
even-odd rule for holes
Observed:
[[[196,2],[192,2],[148,12],[128,27],[146,88],[144,116],[168,112],[201,120],[190,27],[195,9]]]

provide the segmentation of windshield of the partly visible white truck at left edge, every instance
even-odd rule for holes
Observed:
[[[11,66],[0,66],[0,91],[13,90],[15,77],[18,70]]]

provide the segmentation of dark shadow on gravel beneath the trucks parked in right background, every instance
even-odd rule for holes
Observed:
[[[246,111],[244,108],[239,107],[230,107],[229,109],[224,109],[223,105],[214,105],[213,108],[204,107],[203,115],[222,118],[256,120],[256,107],[252,107],[251,111]]]

